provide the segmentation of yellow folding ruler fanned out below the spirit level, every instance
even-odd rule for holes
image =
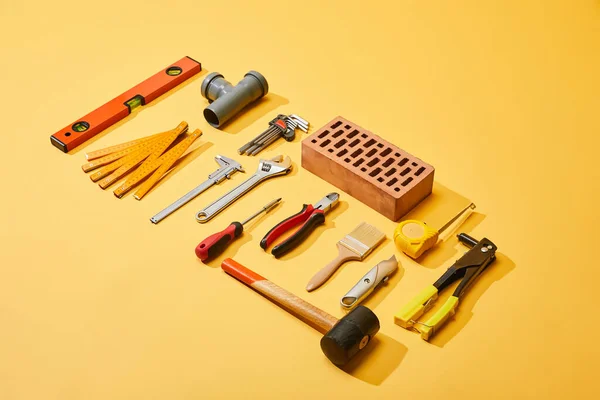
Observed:
[[[187,131],[188,124],[184,121],[167,132],[93,151],[86,154],[88,162],[81,169],[84,172],[96,170],[90,174],[90,179],[98,182],[102,189],[131,173],[114,194],[121,198],[144,181],[134,195],[140,200],[202,135],[199,129],[191,134]]]

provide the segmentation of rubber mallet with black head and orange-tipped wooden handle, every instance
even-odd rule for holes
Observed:
[[[325,334],[321,339],[321,350],[335,365],[346,364],[356,353],[364,349],[379,331],[379,319],[365,306],[356,307],[338,320],[231,258],[223,260],[221,268]]]

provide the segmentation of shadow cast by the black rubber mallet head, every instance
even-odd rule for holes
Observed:
[[[381,385],[398,368],[408,348],[378,333],[342,370],[371,385]]]

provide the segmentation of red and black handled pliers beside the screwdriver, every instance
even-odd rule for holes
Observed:
[[[292,236],[273,247],[271,254],[275,258],[283,256],[306,239],[317,226],[325,223],[325,214],[338,204],[339,198],[340,195],[338,193],[329,193],[314,206],[312,204],[304,204],[300,212],[284,219],[267,232],[265,237],[260,241],[260,247],[266,251],[282,234],[298,225],[302,225]]]

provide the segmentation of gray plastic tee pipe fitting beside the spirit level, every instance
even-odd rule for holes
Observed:
[[[215,128],[239,113],[248,104],[269,92],[269,84],[262,74],[249,71],[236,86],[218,72],[211,72],[202,81],[202,96],[211,103],[204,109],[204,118]]]

